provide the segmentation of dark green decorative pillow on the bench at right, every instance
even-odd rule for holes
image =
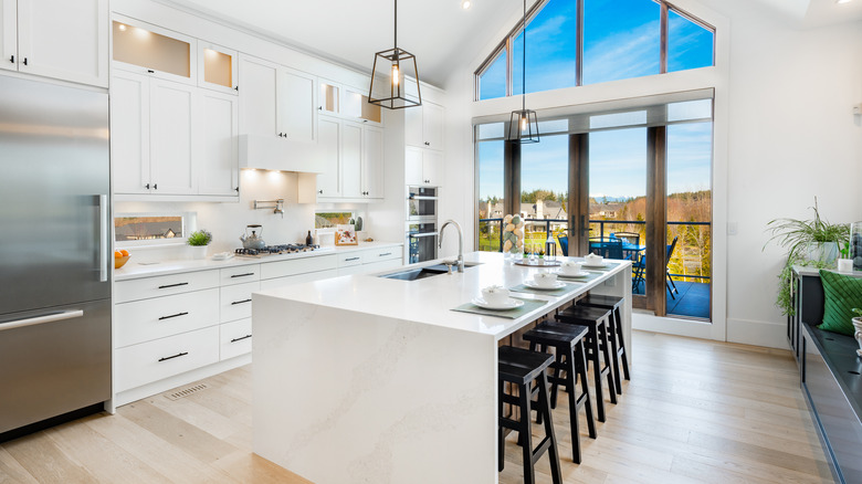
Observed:
[[[854,307],[862,307],[862,278],[820,270],[823,282],[823,324],[818,326],[827,332],[853,336],[855,329],[851,319]]]

